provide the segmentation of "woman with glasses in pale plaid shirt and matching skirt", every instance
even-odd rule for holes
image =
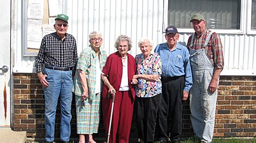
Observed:
[[[107,59],[99,31],[89,34],[89,42],[78,59],[73,85],[79,142],[95,142],[92,134],[98,133],[103,88],[100,76]]]

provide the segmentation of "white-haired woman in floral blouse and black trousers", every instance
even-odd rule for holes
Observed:
[[[152,50],[152,40],[141,38],[138,46],[142,53],[136,55],[136,86],[135,114],[139,139],[142,142],[154,142],[156,119],[162,99],[162,62]]]

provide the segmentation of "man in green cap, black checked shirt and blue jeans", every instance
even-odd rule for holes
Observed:
[[[60,139],[68,142],[71,134],[73,73],[78,60],[75,38],[67,33],[68,16],[57,15],[56,32],[43,37],[36,58],[36,71],[43,86],[45,100],[46,142],[54,141],[57,101],[60,96]]]

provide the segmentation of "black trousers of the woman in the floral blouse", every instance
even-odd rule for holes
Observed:
[[[135,115],[139,138],[144,142],[154,142],[157,112],[162,94],[153,97],[136,97]]]

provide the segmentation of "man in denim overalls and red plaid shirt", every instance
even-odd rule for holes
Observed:
[[[193,75],[190,118],[194,133],[201,142],[212,142],[217,87],[224,66],[222,44],[220,37],[206,28],[201,14],[195,13],[190,22],[195,30],[187,44]]]

